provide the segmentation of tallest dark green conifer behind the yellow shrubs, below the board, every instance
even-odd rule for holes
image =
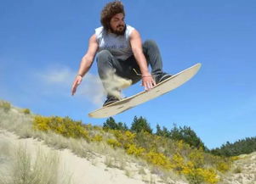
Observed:
[[[137,133],[139,133],[140,131],[147,131],[149,133],[152,133],[151,125],[142,116],[140,116],[139,118],[137,118],[137,116],[134,116],[131,131]]]

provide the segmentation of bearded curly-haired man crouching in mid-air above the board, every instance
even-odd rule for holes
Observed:
[[[142,44],[139,31],[126,25],[124,17],[125,12],[120,1],[107,3],[102,9],[102,27],[97,28],[89,39],[88,52],[82,57],[80,69],[72,85],[72,95],[93,64],[96,53],[98,72],[105,89],[108,86],[105,79],[109,74],[129,79],[132,84],[142,80],[145,90],[150,90],[171,76],[162,72],[162,59],[156,42],[145,41]],[[148,65],[151,65],[151,73]],[[107,99],[103,106],[119,100],[107,90],[106,92]]]

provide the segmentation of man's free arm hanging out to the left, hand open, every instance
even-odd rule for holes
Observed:
[[[88,51],[87,53],[82,57],[80,68],[78,70],[77,76],[75,81],[73,82],[71,93],[72,95],[75,94],[77,91],[77,86],[82,82],[82,76],[86,75],[88,70],[91,68],[95,54],[98,50],[98,42],[96,40],[96,35],[90,37],[88,42]]]

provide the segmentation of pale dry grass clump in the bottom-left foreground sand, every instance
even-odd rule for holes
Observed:
[[[38,149],[32,159],[24,145],[14,148],[10,155],[9,170],[0,172],[0,183],[3,184],[54,184],[71,183],[71,176],[60,177],[60,158],[57,153],[43,153]],[[47,165],[47,166],[46,166]],[[1,166],[1,165],[0,165]]]

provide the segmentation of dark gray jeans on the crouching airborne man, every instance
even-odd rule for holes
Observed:
[[[151,74],[161,74],[162,58],[156,42],[147,40],[142,47],[147,64],[151,65]],[[133,84],[141,80],[141,75],[138,75],[141,72],[134,55],[127,60],[121,60],[116,59],[108,50],[102,50],[98,53],[97,65],[101,81],[104,81],[109,70],[115,70],[117,75],[132,80]],[[136,70],[137,74],[134,70]],[[103,85],[105,86],[106,84],[103,83]]]

